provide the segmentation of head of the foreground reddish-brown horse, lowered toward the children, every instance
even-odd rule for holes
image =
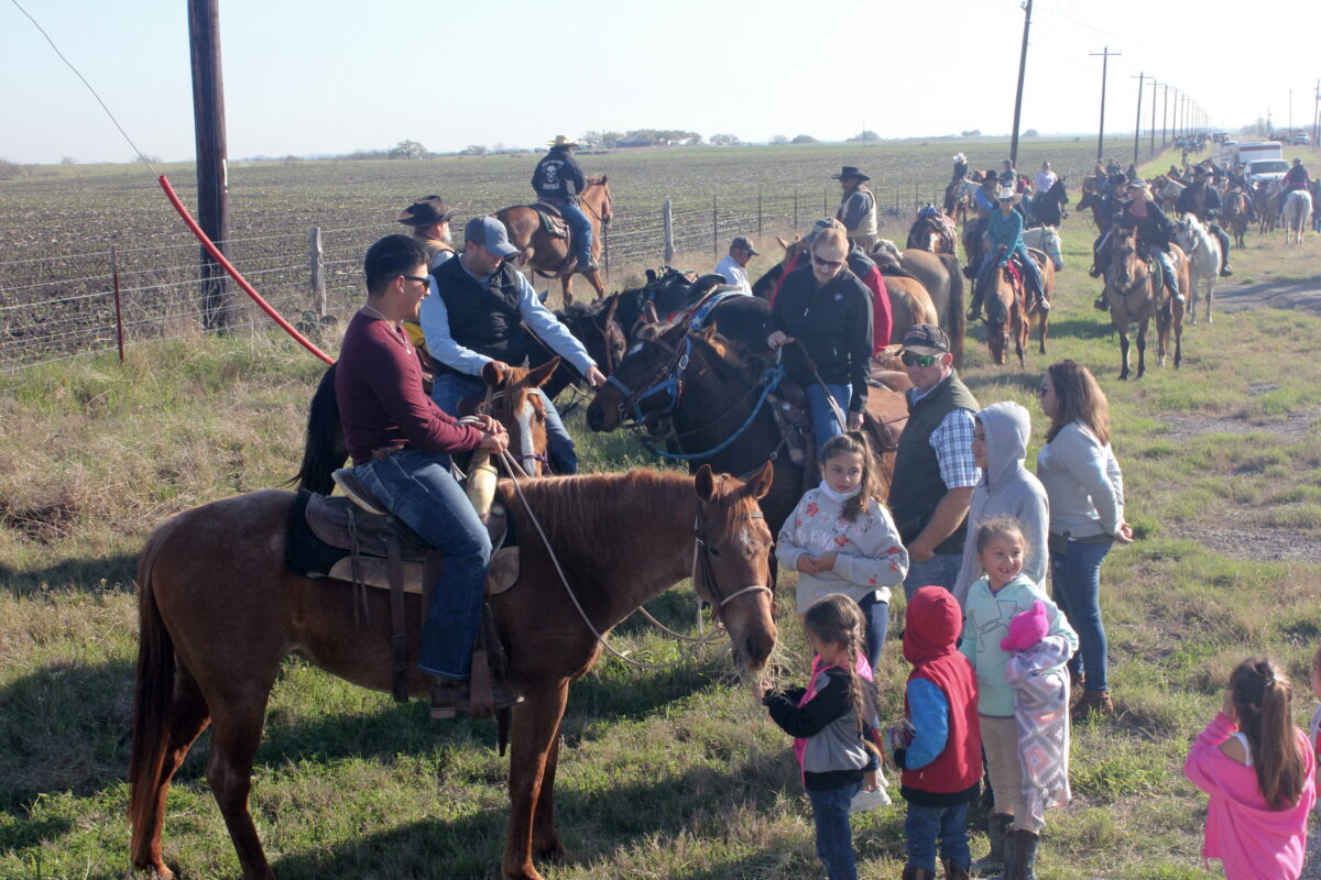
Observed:
[[[771,536],[757,504],[770,491],[775,474],[766,462],[740,482],[697,468],[697,553],[692,586],[729,632],[734,662],[760,670],[775,646],[775,607],[770,591]]]

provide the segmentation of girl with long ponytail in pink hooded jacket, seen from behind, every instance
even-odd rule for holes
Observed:
[[[1316,757],[1293,724],[1292,691],[1269,660],[1239,664],[1184,764],[1211,796],[1202,856],[1223,862],[1226,880],[1297,880],[1303,871]]]

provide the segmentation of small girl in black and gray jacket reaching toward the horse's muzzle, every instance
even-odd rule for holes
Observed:
[[[849,806],[859,790],[877,788],[876,689],[864,654],[863,613],[832,594],[803,616],[816,656],[808,686],[787,691],[762,683],[761,702],[794,739],[803,788],[812,803],[816,855],[830,880],[857,880]]]

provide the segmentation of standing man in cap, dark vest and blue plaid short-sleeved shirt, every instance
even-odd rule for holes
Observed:
[[[934,325],[904,336],[909,422],[900,435],[890,511],[909,551],[904,590],[952,590],[963,559],[968,505],[982,470],[972,460],[976,398],[954,372],[950,339]]]

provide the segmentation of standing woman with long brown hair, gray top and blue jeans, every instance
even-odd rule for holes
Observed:
[[[1115,705],[1100,621],[1100,563],[1116,541],[1133,540],[1124,520],[1124,478],[1110,449],[1110,404],[1075,360],[1050,364],[1037,400],[1050,420],[1037,454],[1037,479],[1050,501],[1052,594],[1079,643],[1069,661],[1070,677],[1083,683],[1074,718],[1108,715]]]

